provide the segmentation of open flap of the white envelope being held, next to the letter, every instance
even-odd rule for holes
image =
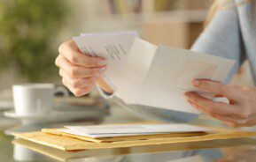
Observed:
[[[124,68],[123,82],[115,92],[120,99],[129,103],[141,95],[141,85],[144,84],[144,78],[151,67],[156,50],[157,46],[138,38],[135,39]],[[131,101],[129,101],[129,96],[132,96]]]

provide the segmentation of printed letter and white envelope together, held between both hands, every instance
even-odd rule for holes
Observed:
[[[213,93],[191,85],[193,79],[223,82],[235,61],[186,49],[155,46],[137,38],[135,32],[81,34],[74,37],[86,55],[107,59],[105,82],[127,104],[167,108],[198,114],[184,92]]]

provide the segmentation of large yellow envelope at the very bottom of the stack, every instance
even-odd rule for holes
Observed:
[[[44,132],[30,132],[30,133],[15,133],[16,137],[34,142],[36,144],[43,144],[53,148],[64,151],[81,151],[91,149],[109,149],[121,147],[133,147],[152,144],[176,144],[188,143],[198,141],[208,141],[213,139],[229,139],[240,138],[247,136],[256,136],[256,132],[245,132],[237,130],[221,130],[218,133],[213,133],[205,136],[187,136],[187,137],[167,137],[167,138],[151,138],[146,140],[132,140],[132,141],[117,141],[112,143],[94,143],[76,139],[69,136],[58,136]]]

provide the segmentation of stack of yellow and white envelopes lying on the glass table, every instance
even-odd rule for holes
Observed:
[[[256,132],[203,128],[187,124],[137,124],[68,126],[63,129],[68,131],[64,132],[61,129],[43,129],[42,131],[14,133],[13,135],[35,144],[43,144],[64,151],[190,143],[256,135]]]

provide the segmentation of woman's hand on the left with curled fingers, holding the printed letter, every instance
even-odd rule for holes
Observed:
[[[79,97],[91,92],[96,83],[105,92],[112,92],[101,78],[106,70],[105,58],[82,54],[74,40],[61,44],[58,53],[55,63],[59,68],[62,83],[75,96]]]

